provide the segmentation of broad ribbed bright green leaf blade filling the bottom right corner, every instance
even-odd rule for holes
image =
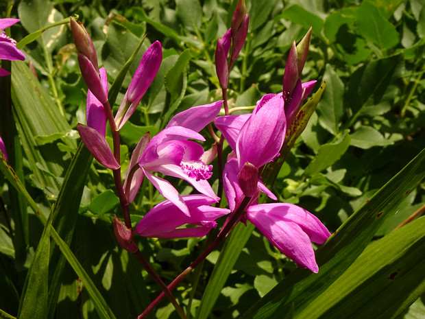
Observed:
[[[294,318],[396,318],[425,292],[424,228],[422,217],[372,242]]]

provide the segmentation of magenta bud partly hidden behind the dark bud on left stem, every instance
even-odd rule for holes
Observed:
[[[108,95],[108,78],[106,76],[106,70],[104,67],[99,69],[100,80],[104,88],[105,94]],[[106,114],[104,105],[99,102],[99,99],[91,93],[90,90],[87,91],[87,105],[86,105],[86,119],[87,125],[90,128],[94,128],[99,132],[103,137],[106,134]]]

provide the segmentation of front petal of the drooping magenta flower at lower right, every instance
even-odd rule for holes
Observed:
[[[295,222],[282,220],[254,205],[247,210],[247,219],[274,244],[280,252],[295,261],[301,268],[318,272],[315,253],[310,238]]]

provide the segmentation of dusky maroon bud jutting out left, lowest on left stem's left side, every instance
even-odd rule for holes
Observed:
[[[119,169],[119,163],[115,160],[106,139],[97,130],[81,123],[77,124],[77,130],[84,145],[101,165],[109,169]]]

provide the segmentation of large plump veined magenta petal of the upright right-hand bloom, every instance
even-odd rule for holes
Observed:
[[[282,147],[285,132],[286,119],[282,97],[275,95],[265,104],[258,104],[236,141],[239,167],[246,162],[261,167],[272,161]]]

